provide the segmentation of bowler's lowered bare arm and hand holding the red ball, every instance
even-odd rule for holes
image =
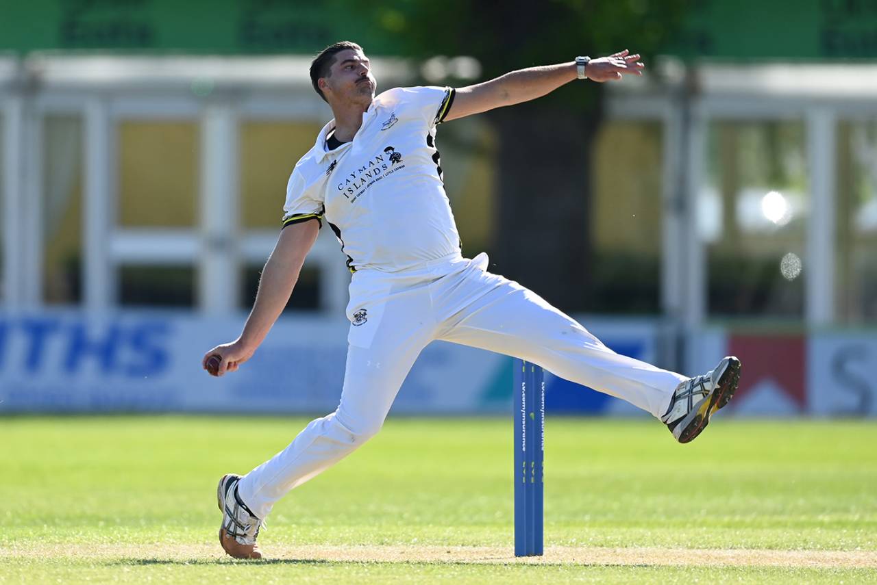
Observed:
[[[214,376],[222,376],[226,371],[235,371],[241,363],[253,356],[256,348],[277,321],[286,307],[289,295],[302,270],[304,257],[317,240],[319,225],[316,221],[293,223],[283,228],[277,239],[275,249],[268,257],[259,279],[259,292],[253,310],[246,319],[244,331],[231,343],[217,345],[204,354],[202,366]],[[214,374],[208,369],[210,356],[219,356],[222,362]]]

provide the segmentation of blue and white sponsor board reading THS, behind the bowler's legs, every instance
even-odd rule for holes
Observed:
[[[244,317],[70,311],[0,314],[2,412],[324,413],[338,405],[350,323],[283,316],[239,371],[210,377],[203,354],[239,334]],[[598,324],[611,348],[649,361],[655,328]],[[448,342],[424,349],[393,412],[509,412],[511,358]],[[630,413],[626,403],[546,374],[548,412]]]

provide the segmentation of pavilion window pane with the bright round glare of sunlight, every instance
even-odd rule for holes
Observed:
[[[711,317],[802,320],[809,211],[801,122],[709,124],[698,194]]]

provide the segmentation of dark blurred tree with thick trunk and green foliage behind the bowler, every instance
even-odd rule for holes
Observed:
[[[648,67],[692,1],[408,0],[371,10],[373,22],[396,35],[400,52],[416,59],[472,55],[487,80],[625,48],[643,55]],[[503,274],[567,311],[590,305],[589,166],[602,99],[601,84],[570,83],[487,114],[499,139],[492,256]],[[636,173],[636,161],[624,152],[618,160],[619,173]]]

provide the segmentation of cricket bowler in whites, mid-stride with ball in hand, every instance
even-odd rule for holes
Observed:
[[[335,412],[310,422],[246,476],[220,480],[219,540],[226,553],[261,558],[256,539],[275,503],[381,430],[417,356],[437,339],[515,356],[622,398],[651,412],[683,443],[728,404],[740,375],[736,357],[685,377],[618,355],[538,294],[489,272],[485,253],[463,257],[445,194],[439,124],[533,100],[576,80],[617,81],[643,68],[639,55],[625,50],[512,71],[466,88],[375,95],[362,47],[345,41],[317,55],[310,80],[334,119],[289,177],[282,230],[243,332],[210,349],[203,367],[224,376],[253,356],[325,223],[353,273],[344,385]]]

